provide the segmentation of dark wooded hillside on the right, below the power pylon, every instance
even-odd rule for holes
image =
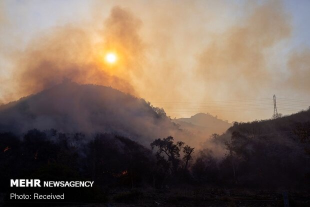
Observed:
[[[212,143],[227,149],[223,163],[230,165],[235,183],[267,188],[309,185],[310,110],[235,122]]]

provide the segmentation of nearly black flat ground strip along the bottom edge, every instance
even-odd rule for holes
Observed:
[[[244,189],[107,190],[105,203],[27,203],[27,206],[310,206],[310,193]],[[287,193],[287,199],[283,194]],[[285,200],[285,201],[284,201]],[[288,205],[284,205],[288,204]],[[3,203],[2,203],[3,204]],[[4,203],[15,206],[17,203]],[[19,203],[18,206],[24,206]]]

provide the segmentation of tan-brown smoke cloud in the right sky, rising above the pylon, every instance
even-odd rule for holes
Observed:
[[[261,85],[270,85],[276,69],[267,66],[265,50],[290,33],[289,17],[279,2],[259,5],[238,25],[213,37],[198,56],[196,74],[206,88],[218,93],[224,89],[231,97],[259,94]]]

